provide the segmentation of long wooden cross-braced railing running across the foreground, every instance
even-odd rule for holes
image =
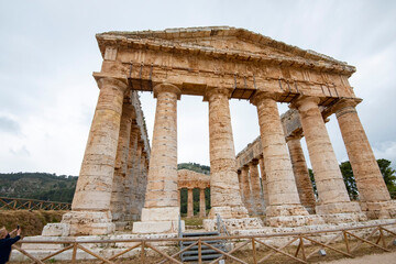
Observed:
[[[393,226],[393,227],[392,227]],[[130,240],[92,240],[92,241],[75,241],[75,240],[59,240],[59,241],[20,241],[18,243],[35,243],[35,244],[64,244],[64,249],[58,250],[50,255],[36,258],[25,250],[21,249],[19,245],[13,245],[13,248],[20,251],[22,254],[28,256],[34,263],[43,264],[44,261],[54,257],[65,251],[73,251],[70,256],[70,262],[74,264],[77,260],[77,250],[84,251],[89,255],[94,256],[96,260],[101,261],[101,263],[114,263],[117,258],[120,258],[125,254],[133,251],[135,252],[131,263],[146,263],[148,256],[146,254],[147,250],[156,252],[160,257],[155,263],[182,263],[179,261],[179,255],[189,250],[193,246],[198,248],[198,263],[202,263],[202,246],[210,249],[221,254],[220,257],[210,262],[212,264],[218,263],[221,260],[227,258],[231,263],[267,263],[274,262],[273,258],[275,254],[279,254],[285,257],[285,262],[295,261],[298,263],[308,263],[315,261],[314,258],[319,257],[319,250],[322,255],[331,255],[329,253],[337,252],[344,257],[354,257],[354,253],[363,246],[363,244],[378,249],[381,251],[388,252],[392,248],[395,249],[394,239],[396,238],[395,231],[392,229],[396,228],[396,222],[382,224],[382,226],[366,226],[360,228],[348,228],[348,229],[338,229],[338,230],[322,230],[315,232],[305,232],[305,233],[278,233],[278,234],[262,234],[262,235],[233,235],[233,237],[207,237],[207,238],[174,238],[174,239],[130,239]],[[364,233],[364,234],[358,234]],[[275,246],[271,241],[274,239],[283,239],[283,244]],[[232,243],[234,246],[232,250],[226,252],[223,250],[212,246],[208,241],[210,240],[224,240],[228,243]],[[156,243],[163,242],[174,242],[175,250],[178,248],[176,243],[179,241],[194,241],[189,246],[184,248],[173,254],[167,254],[164,251],[160,250]],[[92,252],[92,249],[87,249],[85,244],[114,244],[114,243],[134,243],[132,246],[122,250],[121,252],[111,255],[103,256],[98,253]],[[280,242],[279,242],[280,243]],[[278,244],[279,244],[278,243]],[[105,245],[101,245],[102,250]],[[326,253],[327,250],[328,252]],[[361,249],[363,250],[363,249]],[[366,249],[364,249],[366,250]],[[235,253],[241,251],[248,251],[248,254]],[[103,252],[103,251],[101,251]],[[152,254],[151,254],[152,255]],[[241,256],[242,255],[242,256]],[[129,256],[131,257],[131,256]],[[150,256],[152,257],[152,256]],[[324,256],[320,256],[324,257]],[[326,257],[324,257],[326,258]],[[322,258],[321,258],[322,260]],[[317,260],[316,260],[317,261]],[[150,262],[153,263],[153,262]]]

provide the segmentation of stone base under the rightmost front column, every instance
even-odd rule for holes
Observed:
[[[391,219],[396,218],[396,201],[362,201],[362,211],[369,219]]]

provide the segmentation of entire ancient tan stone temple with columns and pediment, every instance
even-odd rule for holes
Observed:
[[[356,113],[362,100],[348,81],[353,66],[228,26],[107,32],[97,40],[103,57],[101,70],[94,73],[100,95],[73,210],[62,221],[70,234],[111,233],[130,220],[139,220],[134,233],[177,231],[177,101],[183,95],[201,97],[209,109],[211,210],[206,228],[217,216],[237,229],[262,228],[260,215],[273,227],[395,216]],[[153,92],[156,99],[151,150],[136,91]],[[252,154],[240,154],[238,163],[232,99],[256,107],[261,131]],[[277,102],[288,103],[298,117],[288,127]],[[332,113],[360,202],[348,196],[326,129]],[[309,186],[302,135],[318,200]]]

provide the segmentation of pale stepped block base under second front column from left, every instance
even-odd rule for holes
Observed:
[[[177,233],[179,228],[178,207],[143,208],[142,220],[133,223],[132,233]],[[185,222],[182,221],[182,232]]]

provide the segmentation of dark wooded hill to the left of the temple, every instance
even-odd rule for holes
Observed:
[[[0,196],[72,202],[77,178],[47,173],[0,174]]]

